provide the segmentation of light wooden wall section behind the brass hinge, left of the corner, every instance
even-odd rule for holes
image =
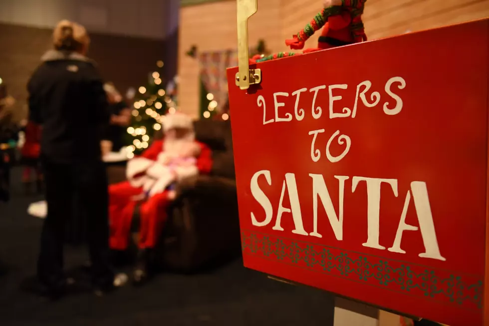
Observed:
[[[249,21],[249,44],[266,40],[272,51],[282,42],[280,34],[280,0],[260,0],[258,12]],[[197,117],[199,112],[199,64],[186,52],[192,45],[199,51],[235,49],[238,44],[236,1],[220,1],[180,10],[179,106]]]

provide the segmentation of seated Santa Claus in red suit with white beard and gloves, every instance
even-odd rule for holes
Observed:
[[[127,164],[127,180],[109,187],[110,247],[125,250],[134,228],[133,216],[139,205],[139,247],[134,271],[135,283],[147,278],[150,251],[158,242],[167,218],[168,204],[175,198],[175,183],[211,171],[211,150],[195,140],[193,123],[182,113],[167,114],[163,140],[153,144]]]

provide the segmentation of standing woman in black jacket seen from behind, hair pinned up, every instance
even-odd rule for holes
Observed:
[[[63,236],[72,203],[87,223],[92,283],[101,294],[111,290],[107,175],[101,159],[100,130],[110,112],[97,68],[85,54],[89,38],[83,26],[63,20],[53,32],[54,49],[42,56],[31,76],[29,118],[42,125],[41,162],[45,172],[47,217],[41,234],[37,277],[43,293],[57,298],[66,291]]]

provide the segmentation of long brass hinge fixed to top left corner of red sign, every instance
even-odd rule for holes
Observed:
[[[258,10],[258,0],[236,0],[238,12],[238,66],[236,85],[248,89],[261,82],[261,70],[249,69],[248,18]]]

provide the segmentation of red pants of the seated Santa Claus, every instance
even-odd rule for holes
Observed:
[[[141,195],[142,188],[134,188],[128,181],[109,187],[110,248],[127,249],[131,232],[131,221],[137,201],[133,197]],[[141,227],[139,248],[154,248],[167,218],[168,192],[157,194],[140,206]]]

